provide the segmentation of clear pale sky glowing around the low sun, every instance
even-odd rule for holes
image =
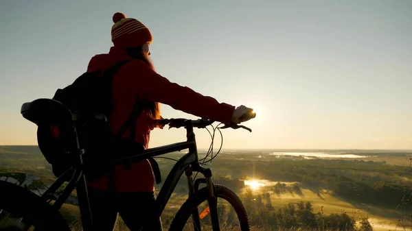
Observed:
[[[1,1],[0,145],[36,144],[21,104],[108,52],[115,12],[150,28],[161,75],[255,108],[253,132],[224,130],[223,147],[412,149],[410,0]],[[156,130],[150,146],[184,138]]]

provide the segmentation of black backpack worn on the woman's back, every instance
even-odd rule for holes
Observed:
[[[80,149],[84,149],[83,162],[89,166],[84,169],[87,180],[99,178],[106,172],[110,160],[114,158],[113,154],[119,153],[119,147],[125,150],[144,149],[134,142],[134,138],[128,141],[122,138],[122,134],[128,127],[135,126],[135,121],[142,110],[139,101],[136,102],[133,113],[116,135],[112,134],[107,121],[112,110],[111,82],[115,73],[126,62],[128,61],[115,64],[104,71],[101,77],[98,76],[99,71],[83,73],[73,84],[56,90],[53,99],[69,108],[73,117],[76,117],[73,119],[76,134],[73,134],[73,126],[38,125],[38,147],[47,162],[52,165],[56,177],[70,169],[76,162],[74,158],[78,158],[78,154],[73,154],[73,151],[78,151],[73,150],[73,136],[77,136]]]

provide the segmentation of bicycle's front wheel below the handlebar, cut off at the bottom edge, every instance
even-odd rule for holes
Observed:
[[[220,230],[249,231],[250,226],[247,212],[236,193],[226,186],[219,184],[215,186],[218,197],[216,207]],[[169,230],[212,230],[209,205],[207,202],[208,193],[209,191],[207,191],[205,187],[187,199],[176,213]],[[192,212],[198,212],[198,221],[200,222],[194,222],[197,216],[191,216]],[[199,225],[200,227],[198,227]]]

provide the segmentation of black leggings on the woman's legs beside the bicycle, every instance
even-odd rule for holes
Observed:
[[[93,219],[93,230],[113,231],[119,214],[131,231],[163,230],[161,219],[155,218],[155,193],[115,193],[88,187]]]

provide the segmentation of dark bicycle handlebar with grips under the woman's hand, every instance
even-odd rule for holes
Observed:
[[[209,120],[209,119],[183,119],[183,118],[178,118],[178,119],[159,119],[157,120],[157,123],[159,125],[169,125],[169,128],[176,127],[186,127],[189,124],[192,124],[193,127],[197,128],[205,128],[215,121]],[[249,127],[246,127],[244,125],[238,125],[236,123],[224,123],[225,125],[223,127],[219,127],[219,129],[226,129],[226,128],[233,128],[233,129],[239,129],[243,128],[244,130],[248,130],[249,132],[252,132],[252,130]]]

